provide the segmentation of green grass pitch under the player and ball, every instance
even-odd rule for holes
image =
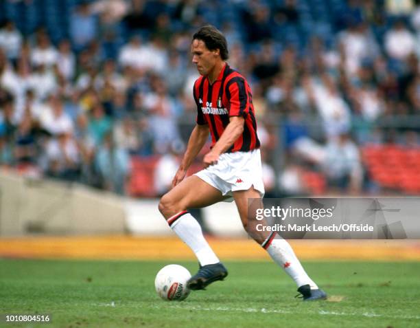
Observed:
[[[418,262],[304,263],[336,300],[313,303],[294,298],[294,283],[269,262],[225,263],[226,281],[165,302],[154,276],[170,263],[0,260],[0,313],[51,315],[47,325],[2,318],[0,327],[420,327]]]

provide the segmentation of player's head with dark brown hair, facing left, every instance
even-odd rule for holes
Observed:
[[[205,25],[194,34],[191,53],[198,72],[204,76],[207,76],[218,62],[229,58],[226,38],[212,25]]]

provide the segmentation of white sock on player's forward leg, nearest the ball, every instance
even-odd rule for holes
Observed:
[[[180,239],[186,243],[196,254],[200,265],[219,263],[218,256],[214,254],[209,243],[202,235],[200,224],[187,210],[167,219],[167,223]]]

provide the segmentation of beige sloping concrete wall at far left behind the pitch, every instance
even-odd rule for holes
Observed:
[[[120,197],[49,179],[0,172],[0,236],[123,233]]]

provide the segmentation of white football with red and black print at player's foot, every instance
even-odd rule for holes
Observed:
[[[164,300],[185,300],[190,292],[187,288],[189,278],[191,274],[182,265],[166,265],[154,279],[156,293]]]

